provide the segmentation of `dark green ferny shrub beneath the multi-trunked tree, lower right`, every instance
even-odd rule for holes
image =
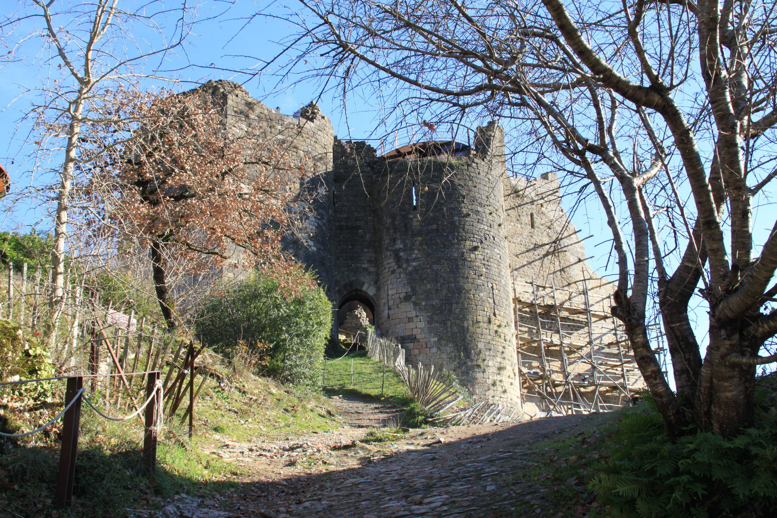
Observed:
[[[777,516],[777,429],[773,423],[736,437],[697,432],[664,435],[648,399],[625,412],[610,460],[591,482],[615,516]]]

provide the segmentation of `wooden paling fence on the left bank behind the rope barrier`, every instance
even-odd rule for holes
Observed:
[[[56,369],[64,375],[88,377],[92,397],[106,406],[136,406],[148,372],[159,371],[165,393],[160,411],[169,421],[185,408],[180,419],[188,420],[191,436],[194,402],[212,373],[197,365],[204,345],[196,347],[193,340],[180,338],[164,322],[136,318],[133,309],[106,306],[100,294],[75,275],[65,283],[61,313],[52,315],[47,303],[50,272],[40,266],[30,271],[26,263],[16,271],[9,263],[2,316],[19,325],[25,337],[42,339],[54,333],[54,349],[48,353]],[[127,371],[139,372],[137,379]]]

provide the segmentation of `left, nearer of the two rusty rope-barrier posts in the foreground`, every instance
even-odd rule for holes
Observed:
[[[81,376],[68,377],[64,392],[64,404],[68,405],[84,386]],[[78,425],[81,423],[81,398],[64,412],[62,423],[62,447],[59,454],[59,476],[55,505],[64,509],[73,502],[73,481],[75,480],[75,459],[78,457]]]

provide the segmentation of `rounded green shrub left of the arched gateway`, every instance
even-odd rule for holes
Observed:
[[[199,324],[217,353],[284,383],[312,387],[321,384],[331,328],[332,304],[322,288],[288,297],[277,281],[258,274],[206,304]]]

